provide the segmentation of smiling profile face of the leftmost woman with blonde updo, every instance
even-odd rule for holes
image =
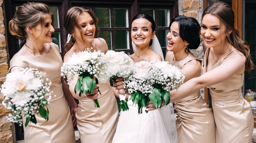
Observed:
[[[35,27],[33,27],[32,33],[30,33],[31,31],[29,31],[29,35],[31,35],[31,37],[35,40],[37,40],[37,42],[41,42],[41,43],[51,43],[52,40],[52,34],[55,31],[52,25],[52,18],[50,15],[46,16],[45,19],[45,23],[44,23],[44,32],[42,33],[42,26],[41,24],[37,24]]]

